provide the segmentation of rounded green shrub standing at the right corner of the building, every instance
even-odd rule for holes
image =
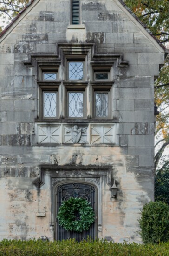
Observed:
[[[143,206],[140,235],[143,243],[160,243],[169,240],[169,206],[163,202],[150,202]]]

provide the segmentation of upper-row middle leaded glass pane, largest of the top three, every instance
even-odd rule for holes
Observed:
[[[83,62],[69,62],[69,80],[83,79]]]

